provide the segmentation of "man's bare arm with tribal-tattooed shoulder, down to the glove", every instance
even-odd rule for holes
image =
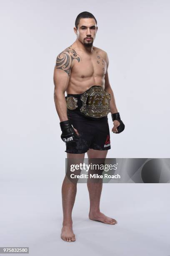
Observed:
[[[67,51],[57,56],[54,68],[54,102],[60,122],[68,120],[65,91],[67,90],[72,67],[72,59]]]

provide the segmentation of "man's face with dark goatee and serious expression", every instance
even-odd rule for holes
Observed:
[[[97,33],[97,26],[93,18],[81,18],[78,29],[75,28],[77,39],[86,47],[91,47]]]

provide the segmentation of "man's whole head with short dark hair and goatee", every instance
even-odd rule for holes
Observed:
[[[92,13],[82,12],[75,20],[74,31],[84,46],[91,47],[97,33],[97,20]]]

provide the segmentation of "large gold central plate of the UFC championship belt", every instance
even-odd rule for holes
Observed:
[[[81,95],[80,112],[86,116],[100,118],[110,112],[110,94],[101,86],[92,86]]]

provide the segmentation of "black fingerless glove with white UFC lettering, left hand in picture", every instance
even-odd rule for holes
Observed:
[[[70,125],[69,120],[60,122],[60,127],[62,131],[62,134],[61,134],[62,141],[72,142],[79,139],[75,130]]]

